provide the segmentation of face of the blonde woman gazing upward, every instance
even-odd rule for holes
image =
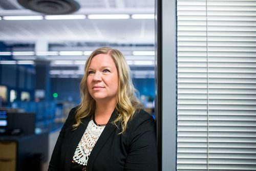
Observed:
[[[95,101],[115,100],[118,90],[118,73],[114,60],[108,54],[98,54],[88,68],[87,86]]]

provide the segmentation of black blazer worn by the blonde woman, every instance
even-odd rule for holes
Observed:
[[[49,171],[68,171],[71,168],[75,149],[91,118],[90,116],[83,118],[77,129],[72,131],[75,111],[75,108],[70,111],[59,133],[50,160]],[[120,129],[111,123],[116,118],[117,114],[114,111],[90,154],[87,170],[158,170],[153,117],[143,110],[138,111],[121,135],[118,135]]]

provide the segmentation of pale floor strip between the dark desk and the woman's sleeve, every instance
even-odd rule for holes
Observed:
[[[60,132],[60,129],[55,131],[55,132],[51,132],[49,134],[49,156],[48,156],[48,161],[45,162],[43,165],[42,165],[42,171],[47,171],[48,169],[48,166],[49,166],[49,162],[50,162],[50,159],[51,159],[51,156],[52,156],[52,152],[53,152],[53,148],[54,148],[54,145],[57,141],[57,138],[58,138],[58,135],[59,135],[59,132]]]

